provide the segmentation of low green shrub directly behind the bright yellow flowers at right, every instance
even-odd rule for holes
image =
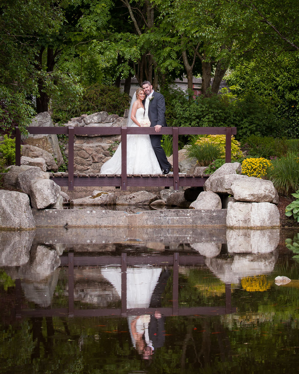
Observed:
[[[283,156],[291,148],[286,138],[260,137],[250,135],[241,140],[241,149],[244,153],[252,157],[270,157]]]

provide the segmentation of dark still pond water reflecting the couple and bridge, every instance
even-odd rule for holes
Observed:
[[[297,373],[297,233],[0,232],[0,373]]]

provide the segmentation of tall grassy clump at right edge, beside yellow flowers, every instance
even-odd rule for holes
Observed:
[[[290,196],[299,190],[299,157],[296,152],[272,160],[273,167],[267,169],[266,177],[272,181],[278,193]]]

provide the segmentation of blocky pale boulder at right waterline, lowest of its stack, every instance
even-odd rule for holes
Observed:
[[[226,227],[279,227],[280,215],[271,203],[229,202]]]

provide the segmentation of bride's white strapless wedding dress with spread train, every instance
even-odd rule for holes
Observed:
[[[144,119],[144,108],[138,108],[135,117],[138,122]],[[121,174],[121,143],[102,166],[101,174]],[[161,174],[149,135],[127,135],[127,174]]]

